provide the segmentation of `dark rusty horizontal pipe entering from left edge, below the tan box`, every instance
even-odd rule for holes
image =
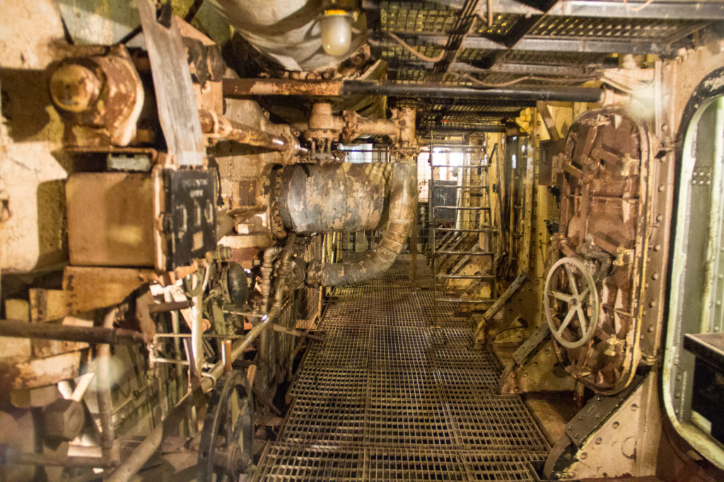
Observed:
[[[101,326],[28,323],[18,320],[0,321],[0,337],[58,339],[65,342],[92,344],[146,343],[146,337],[140,331]]]

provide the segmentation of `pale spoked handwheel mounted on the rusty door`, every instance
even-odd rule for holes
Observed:
[[[565,291],[559,287],[561,270],[565,272],[565,279],[568,280]],[[558,318],[551,313],[551,300],[555,300],[556,304],[563,302],[566,305],[566,313],[560,325],[556,324]],[[566,348],[578,348],[591,339],[598,324],[599,297],[596,282],[584,263],[576,258],[561,258],[555,262],[545,280],[543,307],[555,341]],[[576,326],[574,318],[578,321],[578,329],[573,329]],[[565,331],[573,334],[576,339],[565,339]]]

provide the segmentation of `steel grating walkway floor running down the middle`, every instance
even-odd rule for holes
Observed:
[[[523,400],[494,394],[497,359],[410,267],[334,290],[255,480],[537,480],[549,447]]]

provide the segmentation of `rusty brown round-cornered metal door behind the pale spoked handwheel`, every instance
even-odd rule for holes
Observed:
[[[587,308],[586,318],[598,318],[592,338],[579,347],[560,348],[559,356],[568,373],[602,394],[620,392],[640,358],[639,290],[647,221],[647,185],[641,178],[648,160],[645,127],[611,109],[578,117],[563,153],[560,234],[554,236],[554,248],[583,263],[600,303]],[[576,276],[564,271],[555,273],[558,286],[575,292]],[[553,292],[544,296],[560,326],[568,302]],[[560,336],[573,345],[583,325],[572,319]]]

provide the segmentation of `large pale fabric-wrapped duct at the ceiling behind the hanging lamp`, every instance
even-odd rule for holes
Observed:
[[[217,0],[224,17],[262,55],[287,70],[317,70],[335,65],[366,41],[363,17],[353,25],[352,43],[344,57],[332,57],[321,46],[321,0]]]

